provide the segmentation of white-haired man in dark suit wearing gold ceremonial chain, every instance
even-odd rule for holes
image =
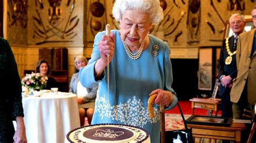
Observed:
[[[219,95],[221,96],[222,117],[233,117],[230,91],[232,80],[237,77],[236,57],[238,35],[244,32],[245,18],[240,13],[230,17],[230,27],[233,35],[223,40],[218,63],[219,80],[221,81]]]

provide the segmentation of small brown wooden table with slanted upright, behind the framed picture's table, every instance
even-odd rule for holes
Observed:
[[[191,103],[191,108],[192,108],[192,114],[194,114],[194,109],[199,108],[199,109],[206,109],[208,110],[207,115],[212,116],[212,111],[215,111],[215,116],[217,116],[218,111],[220,111],[221,108],[221,99],[215,98],[217,95],[217,92],[219,90],[220,82],[217,79],[214,85],[214,89],[212,92],[212,97],[211,98],[192,98],[190,99]]]

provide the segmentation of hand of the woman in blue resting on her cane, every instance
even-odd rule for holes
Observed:
[[[173,95],[172,92],[163,90],[163,89],[156,89],[150,93],[150,96],[153,94],[157,94],[156,99],[154,99],[154,103],[158,104],[159,106],[166,105],[169,106],[172,103]]]

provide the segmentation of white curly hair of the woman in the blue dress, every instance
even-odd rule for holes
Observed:
[[[158,24],[163,20],[164,13],[159,0],[116,0],[113,6],[113,17],[118,22],[126,10],[138,10],[141,13],[149,13],[150,23]]]

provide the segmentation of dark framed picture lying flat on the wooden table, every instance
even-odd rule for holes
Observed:
[[[186,121],[187,124],[230,126],[230,124],[232,123],[232,118],[192,115],[189,118],[187,118]]]

